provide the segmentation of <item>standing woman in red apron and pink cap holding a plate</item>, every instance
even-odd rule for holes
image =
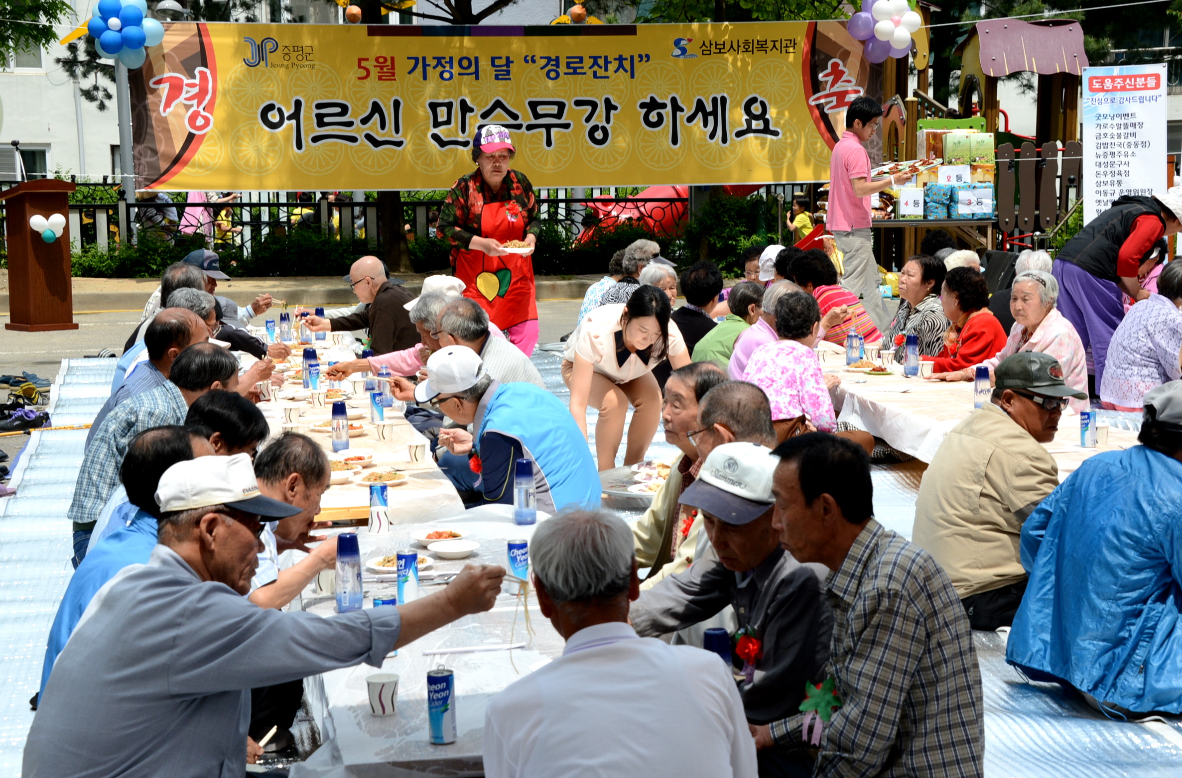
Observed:
[[[533,354],[538,345],[538,301],[531,253],[538,240],[538,202],[530,179],[509,163],[517,155],[509,132],[498,124],[476,131],[476,170],[452,185],[440,209],[440,234],[452,241],[452,266],[465,296],[479,302],[509,341]],[[526,253],[506,249],[522,241]]]

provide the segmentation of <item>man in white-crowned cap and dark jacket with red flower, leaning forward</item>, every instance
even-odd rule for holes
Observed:
[[[833,616],[821,596],[827,570],[800,564],[772,525],[779,460],[755,443],[726,443],[706,457],[681,503],[704,516],[710,550],[660,581],[632,604],[639,635],[684,629],[732,606],[735,669],[747,720],[766,724],[797,711],[805,684],[829,656]],[[820,680],[820,679],[816,679]]]

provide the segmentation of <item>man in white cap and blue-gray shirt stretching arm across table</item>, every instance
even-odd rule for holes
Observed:
[[[264,497],[251,458],[181,462],[161,477],[160,543],[91,601],[58,656],[22,774],[241,776],[252,687],[339,667],[492,608],[505,570],[466,567],[443,591],[331,619],[243,595],[261,519],[301,509]]]

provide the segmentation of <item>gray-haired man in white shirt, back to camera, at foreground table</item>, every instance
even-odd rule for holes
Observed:
[[[485,712],[488,778],[755,776],[754,743],[716,654],[638,638],[632,534],[609,512],[538,524],[530,544],[541,614],[563,655],[494,697]],[[589,767],[593,765],[593,767]]]

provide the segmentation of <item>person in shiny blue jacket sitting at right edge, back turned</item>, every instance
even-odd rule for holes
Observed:
[[[1143,445],[1087,459],[1022,525],[1030,583],[1006,659],[1115,715],[1182,713],[1182,381],[1145,395]]]

